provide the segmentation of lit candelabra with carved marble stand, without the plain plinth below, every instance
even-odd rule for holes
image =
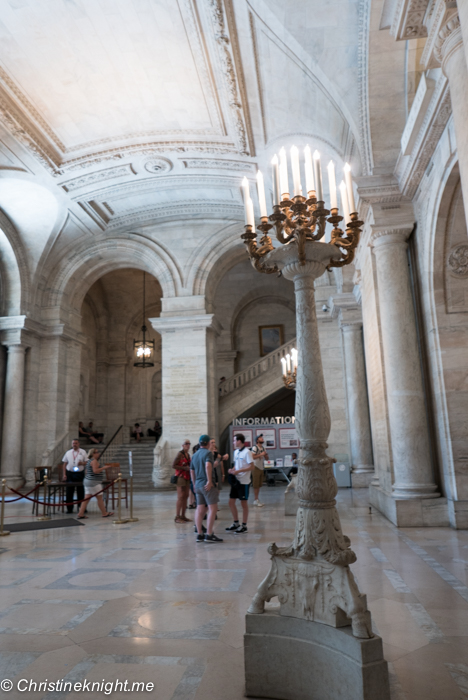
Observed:
[[[314,291],[314,280],[326,269],[348,265],[353,260],[363,223],[355,211],[349,166],[345,167],[346,184],[340,185],[346,224],[343,231],[339,228],[343,216],[337,205],[334,164],[328,166],[330,210],[325,208],[317,152],[314,154],[313,173],[310,150],[305,151],[307,197],[302,195],[299,159],[294,147],[291,149],[291,165],[294,178],[292,198],[289,196],[284,149],[280,151],[279,161],[276,156],[273,159],[276,203],[270,216],[266,211],[263,176],[261,173],[257,175],[261,213],[258,243],[249,186],[245,178],[243,181],[247,223],[242,239],[252,265],[259,272],[282,274],[294,282],[297,353],[289,367],[286,358],[284,381],[287,386],[296,385],[296,430],[300,439],[296,486],[299,507],[294,541],[286,547],[269,546],[271,569],[260,584],[249,613],[263,613],[265,601],[278,596],[281,615],[315,620],[332,627],[351,625],[353,635],[365,639],[373,636],[370,613],[366,597],[360,594],[349,569],[349,565],[356,561],[356,555],[341,529],[335,507],[334,459],[325,451],[330,414]],[[329,243],[321,242],[327,222],[333,226]],[[279,242],[276,247],[269,235],[273,227]]]

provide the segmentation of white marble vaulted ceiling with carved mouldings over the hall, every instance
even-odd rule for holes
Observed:
[[[0,209],[23,310],[121,237],[157,244],[193,294],[197,260],[238,247],[241,178],[261,168],[270,187],[283,144],[369,174],[370,4],[0,0]]]

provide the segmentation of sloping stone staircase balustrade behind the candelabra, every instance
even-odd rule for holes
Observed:
[[[295,346],[296,338],[293,338],[223,382],[218,406],[220,432],[234,418],[284,387],[281,358]]]

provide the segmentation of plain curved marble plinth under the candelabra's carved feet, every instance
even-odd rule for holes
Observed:
[[[382,640],[353,637],[351,627],[246,615],[247,697],[278,700],[390,700]]]

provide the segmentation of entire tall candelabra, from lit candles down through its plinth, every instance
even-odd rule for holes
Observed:
[[[296,480],[298,509],[294,540],[270,544],[271,567],[246,617],[245,667],[248,696],[297,700],[387,700],[390,697],[382,643],[372,633],[366,596],[349,568],[356,561],[336,509],[334,459],[327,455],[330,432],[315,309],[314,280],[331,267],[349,264],[363,223],[354,204],[349,166],[340,185],[330,163],[330,209],[322,194],[320,156],[304,152],[307,197],[302,195],[298,150],[291,149],[294,195],[290,197],[286,153],[273,159],[273,212],[268,215],[263,176],[257,174],[261,238],[257,243],[249,184],[244,178],[249,258],[262,273],[281,274],[294,283],[296,431],[300,440]],[[344,221],[345,230],[339,228]],[[324,242],[327,222],[333,228]],[[276,231],[276,246],[269,231]],[[292,384],[293,363],[285,383]],[[284,370],[283,370],[284,371]],[[265,610],[272,598],[279,610]],[[370,662],[372,658],[372,663]]]

